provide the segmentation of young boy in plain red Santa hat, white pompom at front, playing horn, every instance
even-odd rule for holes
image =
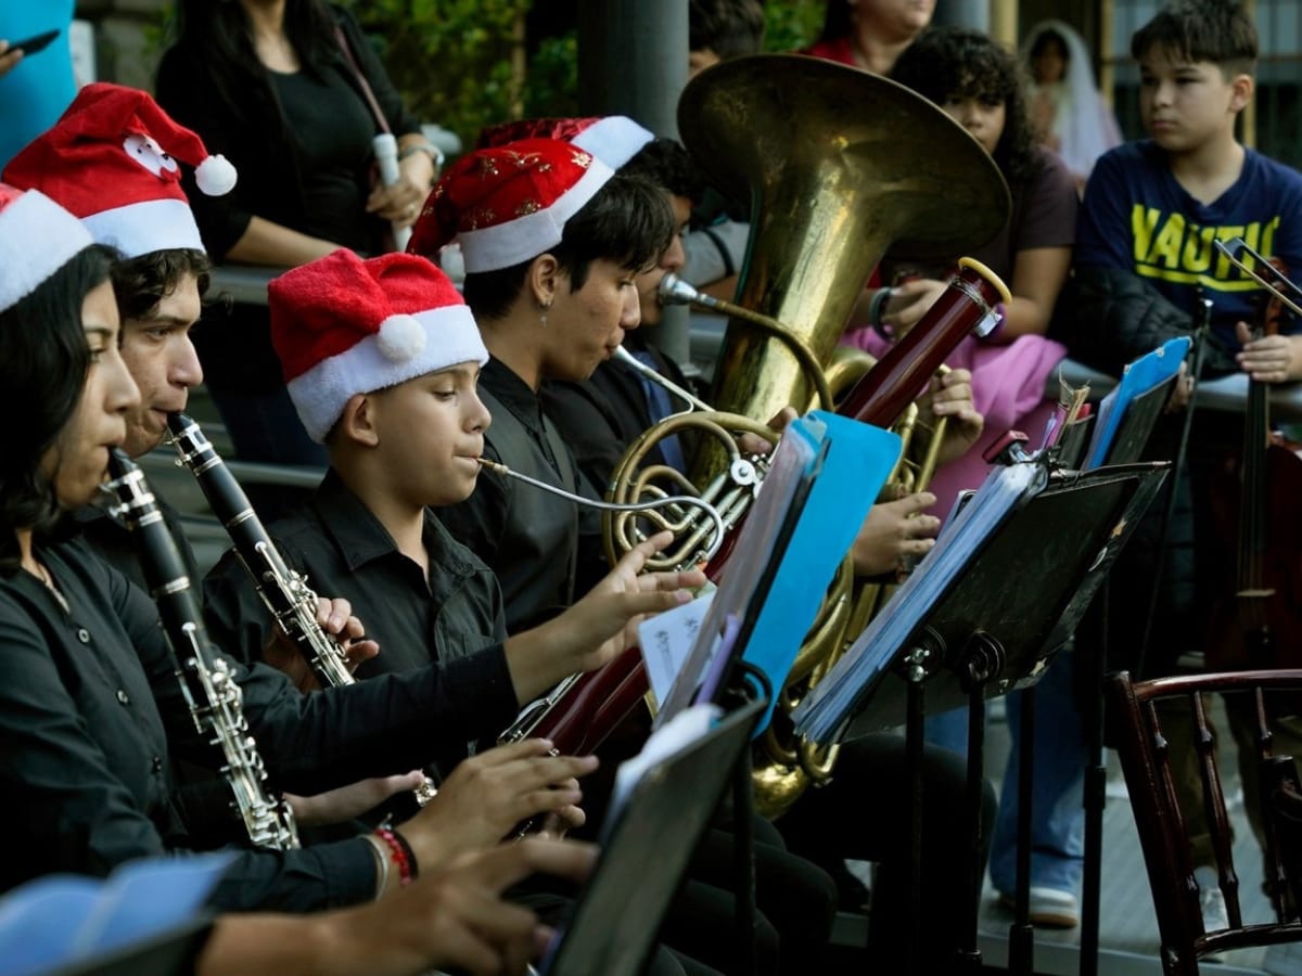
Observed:
[[[314,586],[366,608],[385,652],[363,662],[359,678],[504,655],[527,698],[600,666],[624,649],[633,617],[685,603],[680,587],[704,582],[699,573],[639,576],[656,549],[644,544],[574,608],[508,638],[492,571],[430,511],[474,491],[491,422],[475,389],[488,354],[461,295],[423,258],[362,260],[339,250],[275,278],[268,298],[289,394],[331,455],[310,502],[270,531]],[[256,656],[275,621],[233,553],[204,591],[212,635]],[[538,783],[518,751],[475,757],[500,782],[462,824],[467,843],[495,841],[538,812],[521,807]],[[465,743],[443,743],[439,766],[447,773],[466,755]],[[500,802],[504,794],[509,803]],[[560,813],[559,825],[575,822],[577,809]]]

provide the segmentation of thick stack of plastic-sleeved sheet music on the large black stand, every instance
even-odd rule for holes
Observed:
[[[971,500],[941,530],[936,545],[896,591],[887,609],[874,618],[796,709],[792,714],[796,731],[820,744],[833,740],[986,537],[1022,498],[1043,491],[1046,484],[1048,471],[1044,465],[1027,462],[995,467]]]

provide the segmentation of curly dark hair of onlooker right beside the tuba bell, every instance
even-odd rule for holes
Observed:
[[[1021,68],[1012,52],[980,31],[928,27],[891,70],[891,77],[937,105],[953,98],[1004,103],[1004,131],[991,154],[1009,185],[1040,168],[1026,108]]]

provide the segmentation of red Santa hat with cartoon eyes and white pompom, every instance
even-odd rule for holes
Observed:
[[[57,200],[98,242],[128,258],[180,247],[202,251],[177,160],[194,167],[199,190],[210,197],[236,185],[234,167],[210,156],[203,141],[147,92],[96,82],[10,160],[4,180]]]

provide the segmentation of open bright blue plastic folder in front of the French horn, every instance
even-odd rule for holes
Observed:
[[[788,426],[658,725],[693,700],[729,616],[747,625],[732,653],[771,687],[783,686],[900,450],[891,431],[820,410]],[[790,518],[794,528],[781,545]],[[771,713],[772,703],[758,730]]]

